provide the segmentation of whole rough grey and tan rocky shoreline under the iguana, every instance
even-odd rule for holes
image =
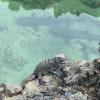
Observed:
[[[44,84],[34,79],[24,89],[1,83],[0,100],[100,100],[100,58],[91,62],[66,59],[58,74],[63,77],[47,73],[42,77]]]

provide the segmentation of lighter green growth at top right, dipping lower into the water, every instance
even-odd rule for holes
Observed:
[[[100,5],[94,8],[100,0],[62,0],[56,6],[54,6],[55,16],[60,16],[63,13],[71,12],[75,15],[81,13],[88,13],[92,16],[100,16]],[[91,4],[91,6],[90,6]],[[93,5],[93,6],[92,6]]]

